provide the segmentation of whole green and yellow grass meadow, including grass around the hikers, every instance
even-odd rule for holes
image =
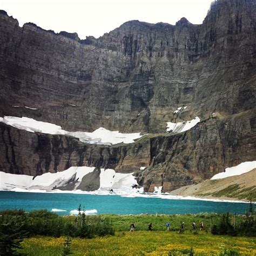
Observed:
[[[186,215],[103,215],[109,218],[116,234],[114,236],[96,237],[93,239],[73,238],[72,255],[220,255],[224,251],[235,251],[239,254],[222,255],[256,255],[255,238],[212,235],[211,225],[221,218],[219,214],[186,214]],[[88,216],[89,217],[89,216]],[[75,217],[64,218],[72,222]],[[93,219],[93,216],[89,218]],[[243,221],[239,215],[236,220]],[[180,234],[181,222],[185,222],[185,232]],[[204,230],[192,231],[192,222],[199,227],[204,222]],[[134,222],[135,232],[130,233],[130,224]],[[147,231],[152,222],[153,231]],[[170,231],[165,224],[171,223]],[[28,255],[62,255],[65,237],[32,237],[22,242],[20,253]]]

